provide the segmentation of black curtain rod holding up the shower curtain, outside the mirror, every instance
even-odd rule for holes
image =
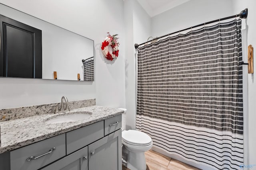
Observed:
[[[218,20],[213,20],[213,21],[201,23],[201,24],[195,25],[195,26],[193,26],[193,27],[188,27],[188,28],[185,28],[185,29],[182,29],[182,30],[173,32],[173,33],[168,33],[168,34],[166,34],[166,35],[162,35],[161,37],[156,37],[156,38],[154,38],[154,39],[152,39],[152,40],[150,40],[150,41],[154,41],[154,40],[156,40],[156,39],[160,39],[160,38],[163,38],[163,37],[166,37],[166,36],[175,34],[175,33],[179,33],[179,32],[182,32],[182,31],[186,31],[186,30],[188,30],[188,29],[200,27],[200,26],[203,26],[203,25],[206,25],[206,24],[210,24],[210,23],[214,23],[214,22],[218,22],[218,21],[222,21],[222,20],[228,20],[228,19],[236,18],[236,17],[240,17],[240,18],[245,19],[245,18],[247,18],[247,15],[248,15],[248,8],[242,10],[242,11],[240,12],[240,14],[236,14],[236,15],[234,15],[234,16],[229,16],[229,17],[225,17],[225,18],[220,18],[220,19],[218,19]],[[134,47],[135,47],[135,49],[137,50],[141,45],[144,45],[144,44],[146,44],[146,43],[149,43],[150,41],[146,41],[145,43],[141,43],[141,44],[134,44]]]

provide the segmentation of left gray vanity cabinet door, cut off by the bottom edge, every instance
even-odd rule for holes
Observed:
[[[88,170],[88,147],[84,147],[40,170]]]

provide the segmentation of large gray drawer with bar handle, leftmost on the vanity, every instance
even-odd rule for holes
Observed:
[[[11,170],[36,170],[66,155],[66,135],[61,134],[26,147],[10,151]],[[52,152],[50,149],[55,148]],[[48,153],[48,154],[46,154]],[[44,156],[41,156],[43,155]],[[38,157],[28,161],[30,156]]]

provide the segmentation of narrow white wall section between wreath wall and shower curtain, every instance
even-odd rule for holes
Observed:
[[[142,43],[150,36],[151,18],[137,0],[124,0],[125,13],[125,90],[126,129],[135,129],[136,121],[136,72],[134,43]]]

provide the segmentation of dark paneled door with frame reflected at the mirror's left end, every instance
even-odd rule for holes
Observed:
[[[42,78],[42,31],[0,15],[3,77]]]

